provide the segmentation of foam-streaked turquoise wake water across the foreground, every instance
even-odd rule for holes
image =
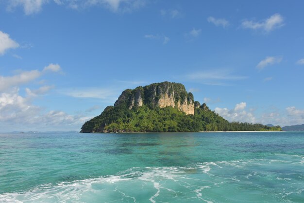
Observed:
[[[269,159],[131,168],[111,176],[0,194],[0,202],[301,203],[303,164],[302,156],[277,154]]]

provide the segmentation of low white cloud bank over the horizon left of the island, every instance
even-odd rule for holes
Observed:
[[[46,91],[48,87],[36,92]],[[17,87],[0,93],[0,129],[6,130],[57,130],[80,129],[88,117],[70,115],[63,111],[43,111],[32,104],[32,95],[22,97]],[[58,127],[58,128],[57,128]],[[38,129],[37,129],[38,128]]]

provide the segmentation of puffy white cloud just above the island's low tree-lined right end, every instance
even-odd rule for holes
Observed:
[[[255,117],[252,112],[245,111],[246,102],[236,104],[235,108],[228,110],[227,108],[215,108],[215,112],[224,117],[228,121],[255,123]]]

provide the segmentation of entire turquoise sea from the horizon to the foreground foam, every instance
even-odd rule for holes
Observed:
[[[303,203],[304,132],[0,134],[1,203]]]

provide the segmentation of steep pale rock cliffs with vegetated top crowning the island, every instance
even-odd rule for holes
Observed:
[[[119,105],[127,105],[130,110],[143,105],[160,108],[171,106],[186,114],[194,114],[194,108],[198,108],[197,105],[195,107],[193,94],[186,92],[184,85],[171,82],[153,83],[134,90],[125,90],[114,107]]]

